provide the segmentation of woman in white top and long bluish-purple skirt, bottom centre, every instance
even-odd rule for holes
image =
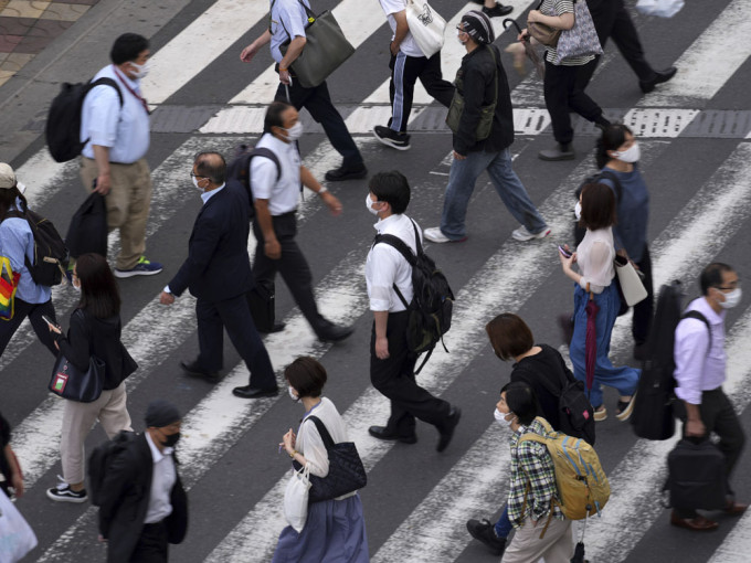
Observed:
[[[300,357],[284,371],[289,396],[305,408],[297,435],[290,428],[279,444],[293,461],[308,466],[310,475],[326,477],[329,459],[324,440],[309,416],[320,419],[335,444],[349,442],[347,427],[334,403],[321,397],[326,369],[314,358]],[[305,528],[297,533],[290,525],[282,530],[274,563],[340,561],[366,563],[368,538],[362,503],[357,491],[332,500],[308,504]]]

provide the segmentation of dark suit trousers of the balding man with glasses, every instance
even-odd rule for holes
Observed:
[[[253,323],[245,294],[231,299],[195,301],[198,318],[198,365],[205,371],[222,369],[224,329],[251,372],[250,384],[257,389],[276,386],[276,378],[266,347]]]

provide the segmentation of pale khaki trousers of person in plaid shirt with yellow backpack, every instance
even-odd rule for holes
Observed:
[[[538,520],[537,525],[526,518],[523,525],[514,532],[511,543],[504,552],[501,563],[537,563],[540,559],[544,563],[569,563],[573,556],[573,538],[571,535],[571,520],[550,519],[548,530],[540,540],[548,517]]]

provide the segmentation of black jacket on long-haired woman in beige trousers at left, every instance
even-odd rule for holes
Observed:
[[[88,360],[97,357],[105,363],[105,390],[115,389],[138,365],[120,342],[120,317],[98,319],[83,309],[71,315],[67,337],[55,333],[55,341],[62,354],[76,369],[88,370]]]

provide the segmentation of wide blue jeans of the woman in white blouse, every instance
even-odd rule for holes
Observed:
[[[573,374],[578,380],[586,382],[586,301],[589,295],[579,284],[574,285],[573,291],[573,338],[569,347],[569,355],[573,363]],[[594,408],[602,405],[602,384],[615,387],[622,395],[633,395],[638,385],[642,370],[624,365],[614,368],[607,358],[610,352],[610,340],[613,333],[613,325],[618,316],[621,298],[618,290],[613,282],[601,294],[594,294],[594,302],[600,306],[595,329],[597,333],[597,357],[594,364],[594,383],[590,403]]]

